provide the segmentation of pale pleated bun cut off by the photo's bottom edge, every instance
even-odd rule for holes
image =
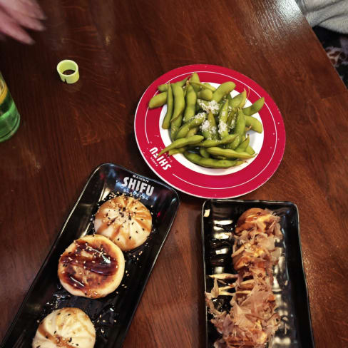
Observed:
[[[88,315],[78,308],[56,309],[36,331],[32,348],[93,348],[96,330]]]

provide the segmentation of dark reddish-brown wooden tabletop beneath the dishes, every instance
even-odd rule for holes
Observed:
[[[46,0],[34,46],[0,44],[0,69],[21,126],[0,144],[0,339],[93,168],[123,165],[155,178],[133,116],[145,88],[190,63],[257,81],[285,121],[275,175],[243,199],[300,210],[316,346],[348,347],[347,88],[295,1]],[[56,64],[78,62],[61,83]],[[202,199],[182,203],[124,347],[203,347]]]

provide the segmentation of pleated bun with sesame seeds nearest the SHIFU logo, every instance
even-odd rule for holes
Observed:
[[[151,228],[152,216],[148,208],[125,195],[103,203],[94,220],[96,233],[110,238],[124,251],[142,245]]]

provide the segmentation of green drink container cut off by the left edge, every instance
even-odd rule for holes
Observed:
[[[0,142],[11,138],[19,128],[21,116],[0,73]]]

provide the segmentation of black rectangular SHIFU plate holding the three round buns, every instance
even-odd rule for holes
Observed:
[[[116,292],[96,300],[72,296],[58,281],[58,259],[73,240],[93,232],[93,215],[111,193],[140,198],[153,215],[153,230],[144,245],[124,253],[123,286]],[[1,347],[31,347],[38,321],[61,307],[78,307],[88,314],[96,327],[95,348],[121,347],[178,205],[178,194],[168,185],[111,163],[96,168],[36,275]]]

